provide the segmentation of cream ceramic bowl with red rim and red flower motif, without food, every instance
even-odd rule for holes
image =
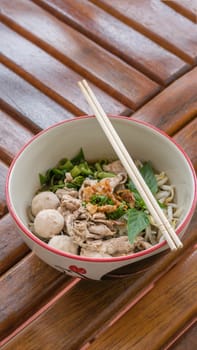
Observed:
[[[150,160],[158,171],[165,171],[176,187],[182,208],[176,229],[182,237],[196,205],[196,176],[185,152],[166,134],[144,122],[124,117],[111,121],[134,159]],[[86,258],[59,251],[39,240],[28,229],[27,207],[39,187],[38,174],[64,157],[72,158],[83,148],[88,160],[116,159],[116,155],[94,117],[63,121],[40,132],[15,157],[9,170],[6,195],[9,211],[26,244],[42,260],[69,275],[90,279],[125,276],[150,268],[166,242],[145,251],[115,258]]]

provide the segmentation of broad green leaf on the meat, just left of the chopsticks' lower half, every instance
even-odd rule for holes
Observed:
[[[138,233],[142,232],[149,225],[149,218],[144,211],[135,208],[129,209],[127,213],[128,238],[132,244]]]

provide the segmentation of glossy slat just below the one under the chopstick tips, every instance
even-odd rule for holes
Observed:
[[[34,131],[74,115],[0,64],[0,105]]]

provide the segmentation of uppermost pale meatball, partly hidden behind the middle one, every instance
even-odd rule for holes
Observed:
[[[59,203],[55,193],[51,191],[40,192],[32,199],[32,214],[36,216],[43,209],[56,209]]]

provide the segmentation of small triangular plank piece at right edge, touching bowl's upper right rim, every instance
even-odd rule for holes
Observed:
[[[196,114],[197,115],[197,114]],[[174,139],[183,147],[188,154],[197,172],[197,152],[196,152],[196,140],[197,140],[197,118],[191,123],[181,129]],[[193,140],[193,142],[191,142]]]

